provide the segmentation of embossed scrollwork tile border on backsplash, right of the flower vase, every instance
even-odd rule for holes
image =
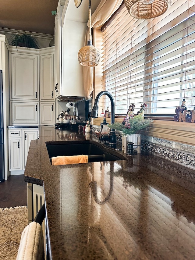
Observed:
[[[195,169],[195,155],[193,154],[147,142],[142,142],[142,144],[144,145],[143,149],[151,154],[161,156],[169,161]]]

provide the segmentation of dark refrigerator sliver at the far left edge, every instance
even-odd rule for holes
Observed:
[[[0,70],[0,182],[4,181],[4,144],[3,144],[3,84]]]

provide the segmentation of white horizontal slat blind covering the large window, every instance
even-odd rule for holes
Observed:
[[[175,0],[164,15],[137,20],[126,7],[102,33],[103,89],[115,114],[147,104],[146,115],[175,114],[195,106],[195,1]],[[104,98],[104,107],[109,106]]]

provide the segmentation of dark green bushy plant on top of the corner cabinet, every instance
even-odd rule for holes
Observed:
[[[12,34],[9,44],[26,48],[39,48],[37,39],[31,34]]]

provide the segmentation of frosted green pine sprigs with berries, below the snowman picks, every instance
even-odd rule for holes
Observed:
[[[129,118],[130,128],[126,128],[125,125],[119,122],[108,125],[108,127],[122,131],[123,135],[132,135],[137,134],[141,129],[149,126],[152,121],[152,119],[143,119],[143,116],[138,114],[137,116]]]

